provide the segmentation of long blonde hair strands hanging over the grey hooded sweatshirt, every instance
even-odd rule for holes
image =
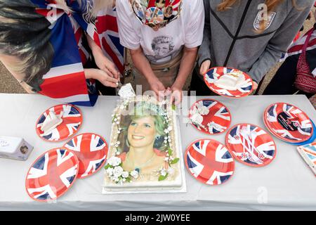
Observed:
[[[217,10],[220,12],[226,11],[228,8],[231,8],[236,3],[236,1],[237,0],[223,0],[222,3],[218,4]],[[275,10],[275,8],[279,6],[279,4],[282,4],[283,1],[284,0],[265,0],[265,5],[268,8],[268,14]],[[293,6],[298,9],[298,6],[296,5],[296,0],[291,1]],[[262,20],[258,32],[263,32],[267,23],[268,21]]]

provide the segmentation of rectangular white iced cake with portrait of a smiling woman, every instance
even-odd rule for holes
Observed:
[[[175,108],[150,96],[121,99],[112,115],[103,193],[185,191]]]

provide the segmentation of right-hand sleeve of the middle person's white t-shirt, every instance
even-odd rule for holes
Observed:
[[[202,44],[204,29],[204,6],[203,0],[190,1],[190,13],[185,21],[185,46],[195,48]]]

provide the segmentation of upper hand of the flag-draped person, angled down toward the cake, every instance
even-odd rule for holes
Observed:
[[[115,68],[114,63],[103,54],[101,49],[94,51],[93,57],[100,70],[103,70],[107,75],[119,80],[119,71]]]

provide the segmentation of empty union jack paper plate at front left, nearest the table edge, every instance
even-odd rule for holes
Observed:
[[[25,188],[34,200],[55,200],[74,184],[79,160],[72,152],[54,148],[41,155],[27,172]]]

